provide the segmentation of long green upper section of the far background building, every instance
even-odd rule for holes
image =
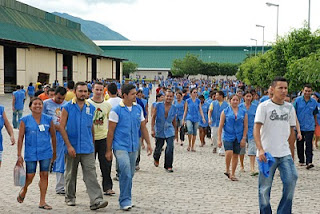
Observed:
[[[105,54],[126,58],[139,68],[171,68],[175,59],[187,53],[199,56],[204,62],[241,63],[255,47],[248,46],[100,46]],[[265,47],[265,50],[270,47]],[[261,51],[261,46],[257,47]]]

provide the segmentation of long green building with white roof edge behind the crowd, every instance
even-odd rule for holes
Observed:
[[[258,46],[222,46],[214,41],[94,41],[106,54],[125,58],[138,64],[136,76],[166,78],[175,59],[187,53],[198,55],[204,62],[241,63],[248,54],[260,52]],[[270,47],[265,47],[268,50]]]

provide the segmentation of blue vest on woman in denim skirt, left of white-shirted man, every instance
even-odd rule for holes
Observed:
[[[240,143],[243,137],[244,129],[244,117],[246,115],[246,110],[244,108],[238,108],[237,119],[232,111],[231,106],[224,110],[226,120],[223,126],[223,141],[233,142],[235,140]]]

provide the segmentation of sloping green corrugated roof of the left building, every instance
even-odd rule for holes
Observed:
[[[15,0],[0,0],[0,39],[104,56],[104,52],[81,32],[80,24]]]

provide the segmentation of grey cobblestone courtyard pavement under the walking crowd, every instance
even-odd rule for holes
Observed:
[[[154,97],[154,96],[153,96]],[[24,115],[29,113],[25,104]],[[0,104],[5,106],[9,120],[12,118],[11,96],[0,96]],[[149,123],[150,126],[150,123]],[[150,128],[150,127],[149,127]],[[16,200],[19,187],[13,185],[13,168],[16,162],[17,148],[9,145],[9,137],[2,130],[4,136],[4,153],[0,168],[0,213],[94,213],[89,209],[89,197],[82,180],[82,171],[78,172],[77,200],[75,207],[68,207],[64,197],[55,194],[55,175],[49,176],[47,203],[53,207],[51,211],[38,208],[39,203],[39,174],[30,185],[25,201],[19,204]],[[18,131],[15,130],[15,138]],[[152,139],[154,147],[154,140]],[[251,177],[249,159],[245,158],[246,172],[237,171],[238,182],[232,182],[223,174],[225,170],[224,157],[212,153],[209,140],[207,145],[199,147],[197,152],[188,152],[187,144],[175,145],[174,173],[168,174],[163,168],[163,156],[158,168],[153,165],[152,156],[142,151],[141,170],[135,174],[133,181],[133,202],[136,205],[131,213],[259,213],[257,196],[257,177]],[[297,162],[297,160],[295,161]],[[115,163],[115,162],[114,162]],[[113,163],[112,177],[115,176]],[[293,202],[293,213],[320,213],[320,151],[314,152],[315,167],[306,170],[298,167],[299,179]],[[98,161],[96,162],[97,175],[101,183],[101,173]],[[104,196],[109,201],[105,209],[96,213],[122,213],[119,210],[119,185],[114,181],[116,195]],[[276,212],[282,194],[282,185],[279,173],[276,173],[271,204]]]

